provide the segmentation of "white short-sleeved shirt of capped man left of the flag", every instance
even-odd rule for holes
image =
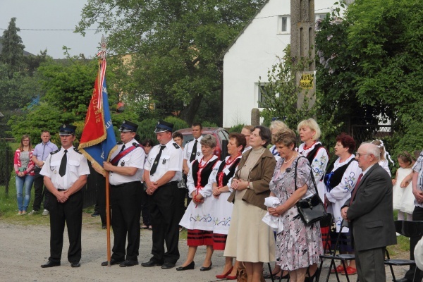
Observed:
[[[49,154],[44,166],[42,166],[39,174],[47,176],[51,179],[54,188],[68,190],[72,187],[73,183],[80,178],[80,176],[87,176],[90,174],[90,168],[88,167],[87,159],[76,152],[74,147],[70,147],[66,153],[66,174],[64,176],[59,175],[59,168],[61,159],[65,149],[61,148],[59,152]]]

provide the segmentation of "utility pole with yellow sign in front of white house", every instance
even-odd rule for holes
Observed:
[[[298,94],[297,108],[302,106],[305,95],[309,98],[309,106],[315,102],[314,21],[314,0],[290,0],[291,57],[294,62],[300,61],[300,58],[311,60],[304,71],[295,75],[296,85],[302,88]]]

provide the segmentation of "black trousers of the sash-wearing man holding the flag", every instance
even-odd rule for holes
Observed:
[[[114,245],[112,259],[138,260],[140,249],[140,181],[122,185],[110,185],[111,226],[113,227]],[[128,237],[128,247],[126,238]],[[126,257],[125,257],[126,254]]]

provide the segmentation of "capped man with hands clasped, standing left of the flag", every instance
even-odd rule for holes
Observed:
[[[68,226],[68,261],[80,266],[82,191],[90,174],[87,159],[73,147],[76,126],[63,124],[60,128],[61,149],[51,152],[39,174],[49,190],[50,257],[41,267],[59,266],[63,247],[65,222]]]

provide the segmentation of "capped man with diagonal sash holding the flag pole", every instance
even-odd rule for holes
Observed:
[[[109,171],[111,226],[113,227],[114,246],[111,265],[121,267],[138,264],[140,248],[141,216],[141,178],[144,168],[145,152],[135,140],[138,125],[123,121],[121,140],[118,149],[111,154],[111,161],[104,161],[103,167]],[[128,247],[126,238],[128,237]],[[125,257],[126,255],[126,257]],[[108,262],[102,262],[102,266]]]

